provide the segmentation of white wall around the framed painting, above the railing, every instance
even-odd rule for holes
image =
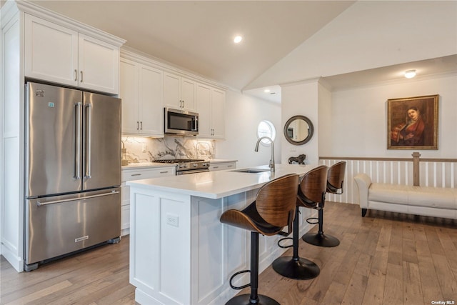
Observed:
[[[387,149],[386,101],[439,94],[438,150],[422,150],[421,157],[457,158],[456,84],[457,75],[447,74],[332,92],[332,136],[319,155],[411,157],[411,150]]]

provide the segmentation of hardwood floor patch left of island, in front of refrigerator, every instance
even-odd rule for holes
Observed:
[[[1,256],[0,304],[135,304],[129,237],[17,273]]]

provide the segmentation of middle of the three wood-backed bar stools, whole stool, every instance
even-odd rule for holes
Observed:
[[[296,196],[295,219],[293,220],[293,256],[281,256],[273,261],[273,269],[289,279],[314,279],[319,275],[319,267],[308,259],[298,256],[298,207],[313,207],[320,204],[326,196],[328,167],[321,165],[308,171],[300,181]]]

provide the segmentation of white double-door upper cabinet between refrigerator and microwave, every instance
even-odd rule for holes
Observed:
[[[164,136],[163,71],[121,58],[122,133]]]

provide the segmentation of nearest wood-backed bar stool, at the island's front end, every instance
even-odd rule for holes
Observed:
[[[289,231],[292,227],[296,209],[296,193],[298,191],[298,175],[288,174],[269,181],[258,190],[256,200],[243,211],[228,210],[221,215],[221,222],[251,231],[251,270],[236,272],[230,278],[233,289],[251,286],[251,294],[234,296],[226,304],[267,304],[279,303],[268,296],[257,294],[258,290],[258,234],[276,235],[284,226]],[[245,272],[251,273],[251,282],[241,287],[231,284],[233,278]]]

